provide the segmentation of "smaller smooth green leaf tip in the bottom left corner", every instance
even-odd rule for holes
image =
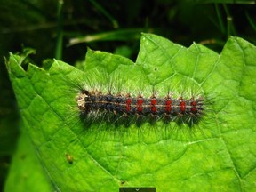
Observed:
[[[4,191],[52,191],[44,167],[36,156],[36,151],[26,132],[22,132],[15,156],[6,180]]]

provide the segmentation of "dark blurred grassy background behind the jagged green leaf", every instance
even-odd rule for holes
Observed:
[[[87,46],[136,60],[140,33],[221,52],[228,36],[256,44],[253,0],[0,0],[0,186],[8,174],[19,136],[19,111],[4,66],[9,52],[33,47],[30,62],[48,58],[71,65]]]

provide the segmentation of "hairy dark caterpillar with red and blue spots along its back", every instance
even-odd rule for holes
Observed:
[[[196,123],[204,111],[204,100],[202,97],[184,99],[172,98],[168,93],[164,98],[153,94],[150,98],[144,98],[142,94],[133,97],[130,93],[116,95],[111,92],[81,90],[76,96],[77,107],[82,116],[103,116],[108,114],[111,118],[105,118],[111,122],[120,119],[136,118],[141,120],[148,117],[150,120],[163,119],[164,122],[182,120],[182,123],[192,125]]]

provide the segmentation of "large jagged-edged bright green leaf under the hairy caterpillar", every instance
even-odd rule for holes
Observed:
[[[229,37],[221,54],[189,48],[151,34],[141,36],[135,63],[88,50],[84,71],[53,60],[45,71],[20,56],[7,63],[20,114],[54,186],[63,191],[250,191],[255,188],[256,79],[254,45]],[[77,84],[150,97],[200,92],[209,100],[195,126],[94,122],[76,109]]]

